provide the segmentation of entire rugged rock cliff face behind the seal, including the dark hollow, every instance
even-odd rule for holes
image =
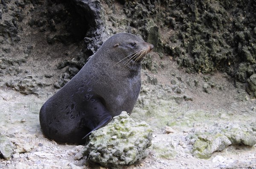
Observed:
[[[190,73],[226,72],[255,97],[255,0],[1,0],[0,8],[1,74],[17,76],[1,84],[22,93],[62,87],[105,39],[130,32],[154,44],[160,58],[171,56]],[[26,73],[36,70],[22,69],[53,57],[48,68],[59,80],[42,84]],[[51,78],[47,70],[42,76]]]

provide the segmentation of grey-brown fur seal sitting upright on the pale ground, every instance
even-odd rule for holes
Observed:
[[[41,107],[41,129],[57,142],[86,142],[85,136],[122,111],[131,113],[140,93],[141,61],[154,48],[120,33],[107,39],[70,82]]]

